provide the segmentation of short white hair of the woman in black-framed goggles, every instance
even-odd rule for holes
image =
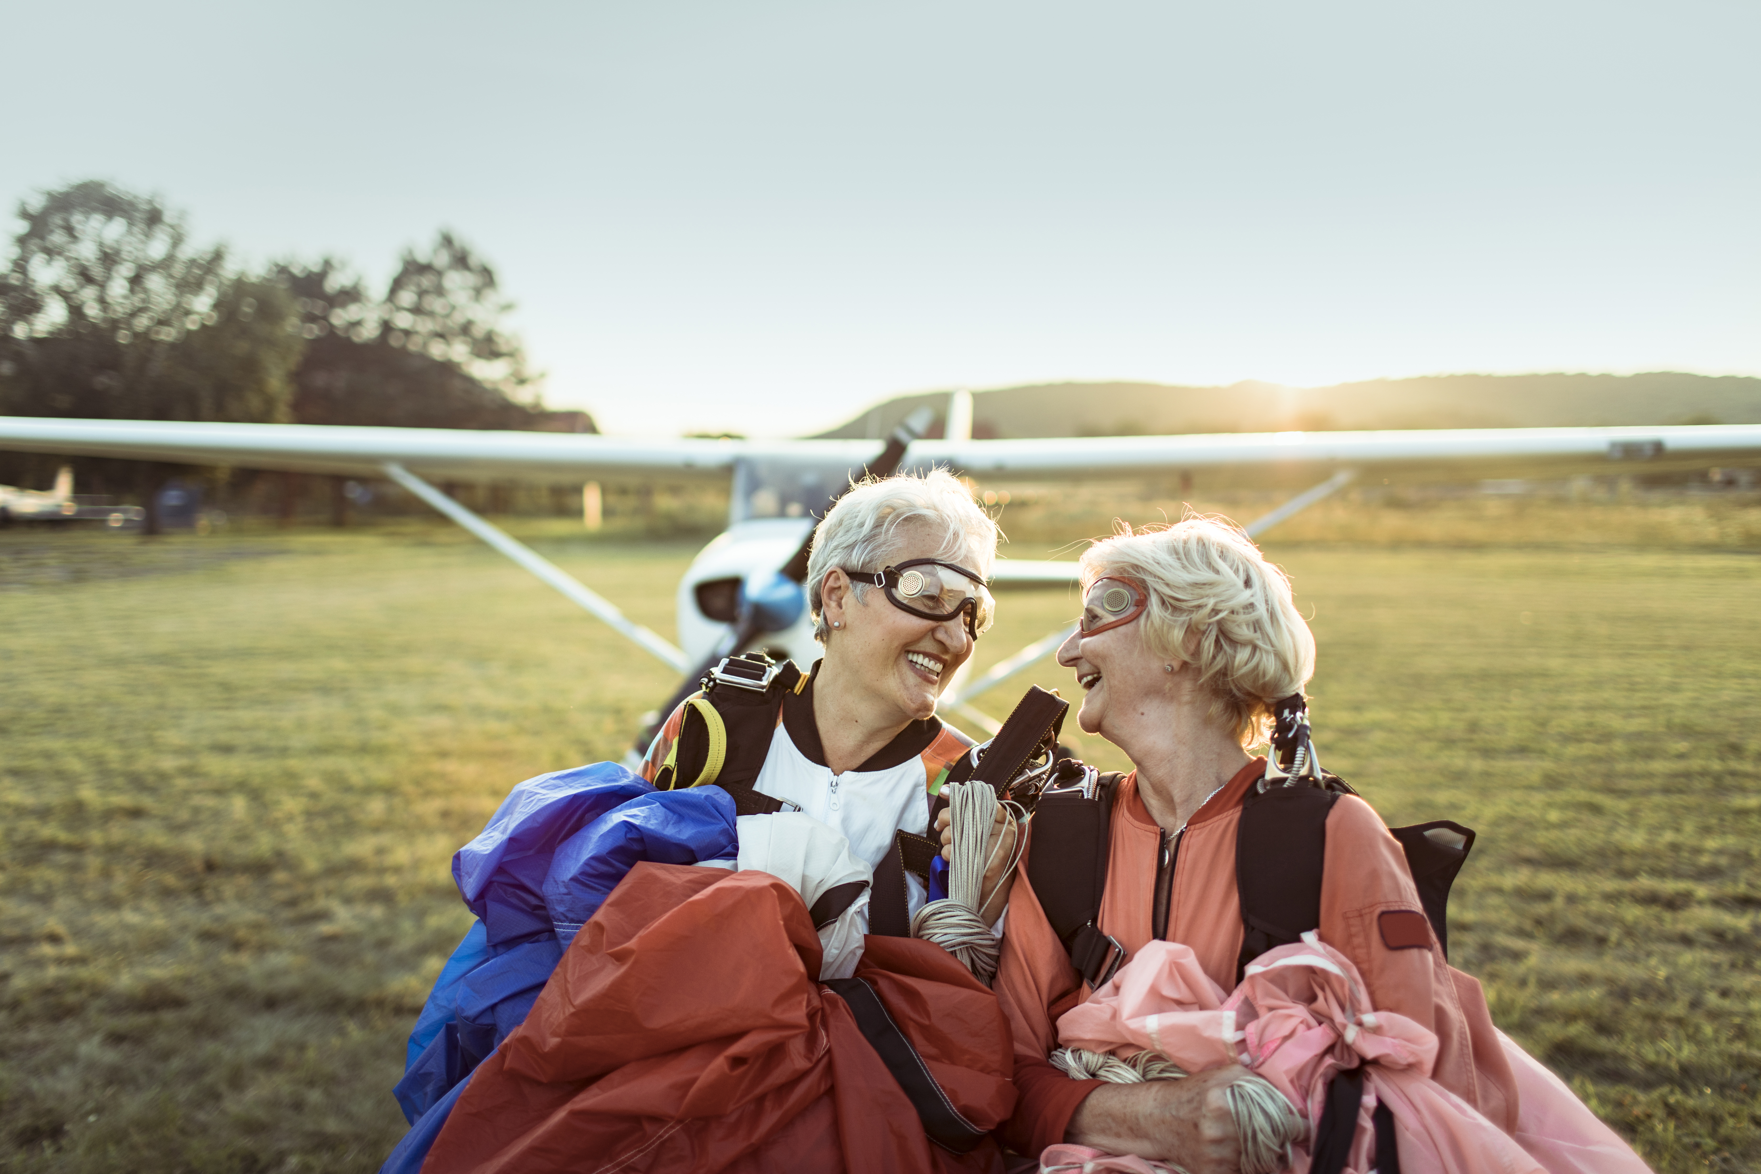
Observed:
[[[822,591],[833,569],[880,570],[898,551],[900,530],[925,523],[942,532],[935,558],[947,560],[990,579],[997,561],[997,523],[972,500],[972,489],[946,468],[928,473],[865,477],[833,503],[814,533],[807,558],[807,607],[814,616],[814,639],[826,642]],[[856,586],[856,602],[868,588]]]

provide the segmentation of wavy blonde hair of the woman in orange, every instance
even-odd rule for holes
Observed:
[[[1197,669],[1212,715],[1243,746],[1266,737],[1271,706],[1301,692],[1315,671],[1315,637],[1296,611],[1291,579],[1238,526],[1187,514],[1101,539],[1081,556],[1083,591],[1104,576],[1148,588],[1143,637],[1162,657]]]

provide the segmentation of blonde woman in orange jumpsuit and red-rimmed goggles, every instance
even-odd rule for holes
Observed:
[[[1113,792],[1106,887],[1094,924],[1125,959],[1155,940],[1182,943],[1220,991],[1231,991],[1243,956],[1257,952],[1243,924],[1238,869],[1247,877],[1275,866],[1238,859],[1243,803],[1268,774],[1266,759],[1250,746],[1266,739],[1278,702],[1301,701],[1315,671],[1314,635],[1286,574],[1238,528],[1206,517],[1141,533],[1124,528],[1094,544],[1081,560],[1081,584],[1079,630],[1058,649],[1058,664],[1083,688],[1081,729],[1120,746],[1136,766]],[[1030,861],[1034,824],[1044,817],[1043,806],[1028,825]],[[1048,1063],[1058,1047],[1058,1017],[1087,1003],[1095,987],[1051,928],[1035,875],[1044,873],[1028,869],[1014,885],[997,975],[1016,1049],[1011,1146],[1039,1155],[1071,1142],[1178,1163],[1190,1174],[1240,1169],[1226,1090],[1247,1077],[1245,1067],[1101,1082]],[[1601,1156],[1583,1165],[1543,1160],[1551,1170],[1645,1169],[1558,1081],[1497,1033],[1479,984],[1448,966],[1426,928],[1400,843],[1354,794],[1326,808],[1317,898],[1319,942],[1356,966],[1372,1007],[1435,1035],[1430,1075],[1437,1084],[1525,1146],[1523,1128],[1532,1121],[1518,1116],[1530,1105],[1520,1100],[1534,1095],[1534,1107],[1546,1102],[1569,1118],[1555,1132],[1583,1146],[1555,1149]],[[1384,919],[1379,933],[1382,915],[1393,922]],[[1388,924],[1400,933],[1391,938]],[[1090,977],[1106,982],[1102,973]],[[1548,1081],[1558,1088],[1541,1088]]]

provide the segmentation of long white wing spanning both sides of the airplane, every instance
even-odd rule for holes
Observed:
[[[847,463],[861,468],[880,440],[634,440],[625,437],[345,428],[315,424],[185,424],[0,415],[0,449],[116,456],[180,465],[234,465],[301,473],[380,477],[400,465],[435,481],[593,481],[726,477],[740,459]],[[1757,424],[1668,428],[1449,428],[1284,431],[1057,440],[917,440],[907,466],[949,465],[1021,479],[1124,477],[1219,465],[1375,465],[1523,458],[1713,458],[1761,451]]]

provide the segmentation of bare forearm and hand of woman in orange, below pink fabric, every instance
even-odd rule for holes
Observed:
[[[1242,1065],[1224,1065],[1183,1081],[1104,1084],[1076,1107],[1065,1141],[1173,1162],[1190,1174],[1240,1174],[1242,1142],[1224,1090],[1245,1075]]]

